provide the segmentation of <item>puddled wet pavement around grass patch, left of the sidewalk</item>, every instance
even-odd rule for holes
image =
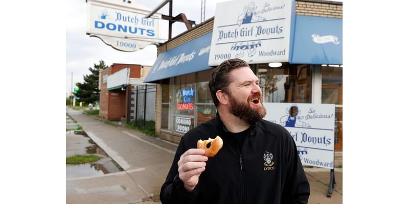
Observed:
[[[88,135],[82,130],[66,131],[67,135],[82,135],[88,138],[89,146],[85,147],[86,154],[95,154],[102,157],[97,162],[86,164],[67,164],[66,165],[66,179],[82,176],[103,175],[107,173],[123,171],[123,169],[113,161],[105,151],[99,147]]]

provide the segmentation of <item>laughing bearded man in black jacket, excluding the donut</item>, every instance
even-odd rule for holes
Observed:
[[[162,203],[307,203],[309,184],[296,144],[284,127],[262,120],[259,79],[249,65],[222,62],[209,88],[216,118],[181,138]],[[216,136],[223,147],[208,158],[197,141]]]

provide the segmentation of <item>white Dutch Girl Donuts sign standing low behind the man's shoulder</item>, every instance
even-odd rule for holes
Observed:
[[[264,119],[284,126],[296,142],[302,164],[334,168],[334,104],[263,105]]]

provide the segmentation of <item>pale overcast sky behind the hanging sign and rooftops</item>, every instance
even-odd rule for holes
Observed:
[[[117,0],[122,2],[122,0]],[[141,5],[153,9],[163,0],[138,1]],[[205,20],[214,16],[216,4],[228,0],[207,0]],[[137,1],[135,1],[137,2]],[[342,2],[342,1],[339,1]],[[89,67],[104,60],[107,66],[113,63],[141,64],[151,66],[156,60],[156,46],[149,45],[135,52],[121,52],[106,45],[96,37],[86,35],[86,6],[85,0],[66,0],[66,93],[75,87],[75,83],[83,82],[83,75],[90,74]],[[131,0],[132,4],[132,0]],[[169,15],[169,3],[158,11]],[[189,20],[200,23],[201,0],[173,0],[173,16],[185,13]],[[168,38],[168,21],[162,20],[162,36]],[[186,26],[182,22],[175,22],[172,26],[172,37],[185,32]],[[71,78],[71,73],[73,77]],[[73,81],[73,83],[71,83]]]

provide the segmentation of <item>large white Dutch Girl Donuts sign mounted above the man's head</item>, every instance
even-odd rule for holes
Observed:
[[[216,5],[209,66],[240,58],[288,62],[294,0],[238,0]]]

